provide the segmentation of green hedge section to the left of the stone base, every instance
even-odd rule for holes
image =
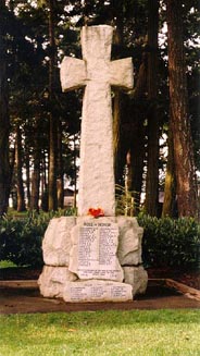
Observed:
[[[17,266],[42,266],[41,241],[50,219],[73,214],[73,210],[38,213],[25,218],[4,217],[0,220],[0,260]]]

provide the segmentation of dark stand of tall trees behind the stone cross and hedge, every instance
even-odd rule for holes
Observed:
[[[198,217],[198,1],[0,0],[1,216],[15,191],[18,211],[39,210],[40,200],[63,208],[64,176],[77,179],[82,93],[61,93],[59,65],[82,57],[83,25],[109,24],[112,58],[130,56],[135,66],[134,90],[113,91],[115,181],[135,213],[145,192],[145,210],[159,216],[164,189],[163,216],[177,201],[178,216]]]

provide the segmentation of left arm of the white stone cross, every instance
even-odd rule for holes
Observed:
[[[63,91],[86,85],[86,64],[84,60],[64,57],[61,63],[61,86]]]

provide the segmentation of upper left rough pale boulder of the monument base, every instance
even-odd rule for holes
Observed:
[[[71,230],[75,217],[54,218],[50,221],[42,241],[43,261],[48,266],[68,266]]]

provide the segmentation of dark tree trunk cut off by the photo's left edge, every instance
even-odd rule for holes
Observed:
[[[10,193],[9,94],[5,53],[5,1],[0,0],[0,217],[7,212]]]

